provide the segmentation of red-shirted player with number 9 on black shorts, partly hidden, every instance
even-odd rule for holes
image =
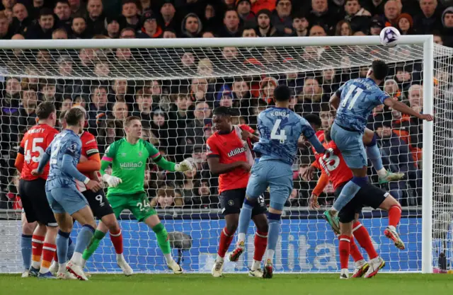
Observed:
[[[74,108],[80,108],[82,112],[85,113],[86,110],[82,107],[75,106]],[[64,120],[64,113],[60,115],[60,124],[66,128],[66,121]],[[82,141],[82,151],[81,159],[77,164],[77,170],[88,178],[99,181],[98,170],[101,169],[101,157],[99,156],[98,144],[96,139],[88,131],[85,131],[82,127],[79,133],[80,140]],[[80,183],[76,180],[77,188],[79,192],[86,197],[88,204],[90,205],[93,215],[100,220],[98,228],[108,228],[110,232],[110,240],[112,241],[113,247],[115,248],[117,265],[121,268],[122,272],[129,276],[132,275],[133,271],[130,265],[127,264],[125,257],[123,255],[123,245],[122,245],[122,232],[120,225],[113,213],[113,209],[108,202],[108,199],[105,197],[103,189],[93,192],[92,190],[87,190],[83,183]],[[96,242],[99,243],[101,239],[105,236],[105,233],[99,229],[96,229],[93,235],[93,243],[88,245],[88,248],[84,250],[84,255],[82,255],[82,267],[85,267],[86,260],[88,260],[91,255],[93,255],[94,250],[98,248]]]

